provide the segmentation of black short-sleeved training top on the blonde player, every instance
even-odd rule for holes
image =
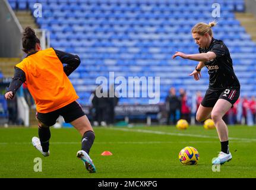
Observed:
[[[213,90],[224,90],[226,87],[240,87],[238,78],[233,69],[229,49],[222,40],[212,39],[208,48],[199,47],[200,53],[214,52],[216,58],[204,62],[208,68],[209,88]]]

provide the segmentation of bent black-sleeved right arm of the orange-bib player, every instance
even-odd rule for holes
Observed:
[[[56,49],[54,50],[62,64],[67,64],[64,66],[64,72],[67,76],[69,76],[80,65],[81,61],[79,56],[72,55],[71,53],[62,52]]]

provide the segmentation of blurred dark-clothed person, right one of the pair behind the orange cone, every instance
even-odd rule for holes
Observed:
[[[110,85],[108,91],[108,125],[115,124],[115,106],[118,105],[118,97],[115,94],[115,86],[114,84]]]

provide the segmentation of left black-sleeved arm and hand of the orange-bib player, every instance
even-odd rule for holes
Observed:
[[[5,91],[5,99],[11,100],[13,99],[16,91],[18,88],[20,88],[21,84],[23,84],[26,81],[26,75],[23,70],[15,66],[15,72],[14,77],[12,78],[12,81],[7,88],[7,91]]]

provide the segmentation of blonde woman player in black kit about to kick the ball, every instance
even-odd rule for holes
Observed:
[[[184,59],[199,61],[195,70],[190,74],[190,76],[194,76],[196,81],[200,80],[201,68],[206,66],[208,69],[209,87],[197,110],[196,119],[199,122],[204,121],[209,118],[211,113],[222,147],[219,156],[213,160],[212,164],[223,164],[231,160],[232,155],[229,152],[227,125],[222,118],[238,100],[240,84],[233,70],[229,49],[222,40],[213,38],[211,27],[215,25],[215,22],[198,23],[192,28],[192,37],[199,46],[200,53],[186,55],[182,52],[176,52],[172,58],[180,56]]]

